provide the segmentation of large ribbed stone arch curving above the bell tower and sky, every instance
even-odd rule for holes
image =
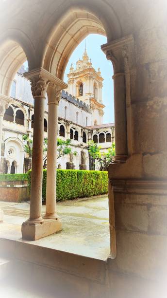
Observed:
[[[48,23],[50,35],[46,38],[42,64],[50,73],[63,79],[69,57],[87,35],[105,35],[109,42],[121,37],[122,30],[115,10],[108,2],[101,7],[95,0],[77,4],[67,1],[60,10],[59,15]]]

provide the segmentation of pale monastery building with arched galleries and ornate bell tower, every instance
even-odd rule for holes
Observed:
[[[114,123],[103,124],[102,81],[92,66],[86,49],[83,60],[70,67],[68,89],[62,91],[58,107],[58,137],[71,139],[74,156],[57,160],[57,168],[99,169],[88,153],[88,142],[100,143],[106,151],[114,142]],[[11,87],[12,101],[3,117],[1,172],[23,173],[31,168],[31,158],[24,152],[24,134],[33,139],[34,99],[30,82],[23,76],[24,65],[18,70]],[[48,137],[48,105],[45,101],[44,137]]]

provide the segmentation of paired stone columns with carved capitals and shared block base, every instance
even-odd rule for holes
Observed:
[[[61,222],[55,220],[56,217],[42,218],[42,174],[43,174],[43,141],[44,141],[44,109],[45,95],[47,88],[53,85],[57,86],[57,82],[67,88],[67,84],[51,75],[43,68],[24,73],[24,76],[30,79],[32,84],[32,93],[34,97],[34,128],[33,128],[33,159],[32,159],[32,180],[31,180],[31,203],[30,218],[22,224],[22,236],[27,240],[36,240],[61,229]],[[58,90],[60,90],[59,88]],[[48,89],[50,103],[55,103],[55,93]],[[53,89],[52,89],[53,90]],[[57,93],[56,93],[57,95]],[[51,180],[50,188],[55,187],[55,160],[56,160],[56,144],[55,135],[57,135],[57,123],[54,123],[57,106],[49,105],[49,140],[48,140],[48,180]],[[53,126],[53,128],[52,128]],[[56,129],[56,130],[55,130]],[[54,139],[54,141],[53,141]],[[49,183],[49,182],[48,182]],[[48,191],[49,193],[49,191]],[[49,214],[55,214],[55,190],[49,193],[47,197],[47,211]],[[48,205],[49,202],[49,205]],[[47,213],[47,214],[48,214]]]

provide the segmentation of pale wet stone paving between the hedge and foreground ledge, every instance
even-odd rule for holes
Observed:
[[[4,211],[0,237],[21,239],[21,224],[29,217],[30,202],[0,202],[0,207]],[[45,205],[42,206],[42,213],[45,214]],[[108,196],[58,202],[57,213],[62,219],[63,230],[32,244],[101,260],[108,257]]]

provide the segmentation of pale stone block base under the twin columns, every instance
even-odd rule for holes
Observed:
[[[25,240],[37,240],[62,230],[60,218],[43,220],[41,223],[26,221],[22,223],[22,238]]]

